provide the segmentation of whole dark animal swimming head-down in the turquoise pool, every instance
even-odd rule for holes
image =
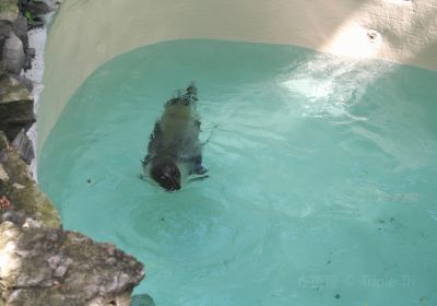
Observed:
[[[178,92],[166,102],[150,136],[147,154],[142,160],[144,175],[167,191],[179,190],[184,177],[205,177],[197,94],[198,90],[191,83],[185,93]]]

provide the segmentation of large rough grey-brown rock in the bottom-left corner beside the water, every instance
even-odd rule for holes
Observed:
[[[114,257],[114,264],[105,259]],[[141,262],[75,232],[0,224],[7,305],[126,305],[143,279]],[[0,304],[1,305],[1,304]]]

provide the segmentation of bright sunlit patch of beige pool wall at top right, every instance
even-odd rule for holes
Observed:
[[[320,49],[437,69],[436,4],[422,0],[367,1],[343,21]]]

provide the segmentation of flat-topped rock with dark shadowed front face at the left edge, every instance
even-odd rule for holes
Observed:
[[[0,130],[12,141],[34,122],[33,95],[19,79],[0,71]]]

